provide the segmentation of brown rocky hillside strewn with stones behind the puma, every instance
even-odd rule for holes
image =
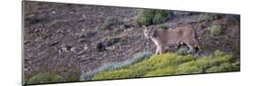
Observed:
[[[70,79],[156,48],[134,23],[141,9],[27,1],[24,8],[26,81],[45,72]],[[175,28],[191,24],[200,35],[200,55],[220,50],[240,58],[239,15],[169,12],[172,14],[163,22],[148,26]]]

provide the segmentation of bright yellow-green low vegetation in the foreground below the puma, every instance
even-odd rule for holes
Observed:
[[[231,62],[233,59],[232,55],[220,51],[202,58],[190,54],[164,53],[118,70],[100,72],[93,80],[240,71],[239,62]]]

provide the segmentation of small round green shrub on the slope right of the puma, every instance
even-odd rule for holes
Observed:
[[[212,25],[210,27],[210,35],[218,36],[222,33],[222,27],[220,25]]]

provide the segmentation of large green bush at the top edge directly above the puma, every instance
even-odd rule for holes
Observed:
[[[133,23],[141,26],[143,24],[161,24],[169,19],[173,13],[166,10],[152,10],[142,9],[137,17],[134,18]]]

